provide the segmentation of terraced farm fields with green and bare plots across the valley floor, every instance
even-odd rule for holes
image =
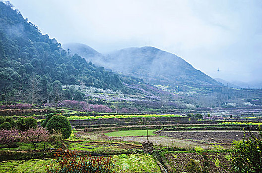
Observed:
[[[74,135],[61,145],[48,145],[49,149],[43,150],[41,144],[40,150],[33,150],[30,144],[20,143],[19,148],[10,151],[0,149],[4,156],[0,173],[30,173],[37,168],[36,173],[44,173],[44,165],[52,161],[52,152],[57,147],[76,150],[79,155],[111,156],[119,173],[187,173],[186,167],[193,161],[199,168],[208,162],[210,173],[230,173],[232,141],[244,137],[243,128],[255,130],[262,123],[260,118],[249,117],[197,120],[162,115],[99,116],[69,121]],[[40,125],[40,120],[38,122]],[[150,154],[143,154],[146,141],[153,143]],[[10,161],[10,157],[16,161]]]

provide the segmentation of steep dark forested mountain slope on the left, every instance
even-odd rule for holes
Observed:
[[[0,2],[0,62],[2,100],[27,100],[41,93],[37,99],[47,102],[55,81],[59,86],[127,89],[118,75],[95,67],[76,54],[71,56],[55,39],[42,35],[37,26],[13,10],[10,3],[3,2]]]

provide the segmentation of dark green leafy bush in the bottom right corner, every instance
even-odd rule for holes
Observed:
[[[262,128],[258,126],[258,131],[244,133],[249,138],[233,142],[236,150],[233,169],[237,173],[262,173]]]

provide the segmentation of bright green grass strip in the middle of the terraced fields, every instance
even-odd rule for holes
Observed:
[[[156,130],[148,130],[149,136],[155,136],[153,132]],[[122,137],[122,136],[146,136],[147,130],[123,130],[123,131],[114,131],[105,133],[105,135],[112,136],[112,137]]]

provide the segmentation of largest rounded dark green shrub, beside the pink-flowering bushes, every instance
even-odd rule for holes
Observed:
[[[47,130],[51,133],[55,131],[61,131],[62,136],[64,139],[67,139],[71,135],[71,125],[66,117],[62,115],[54,115],[48,122],[47,122]]]

